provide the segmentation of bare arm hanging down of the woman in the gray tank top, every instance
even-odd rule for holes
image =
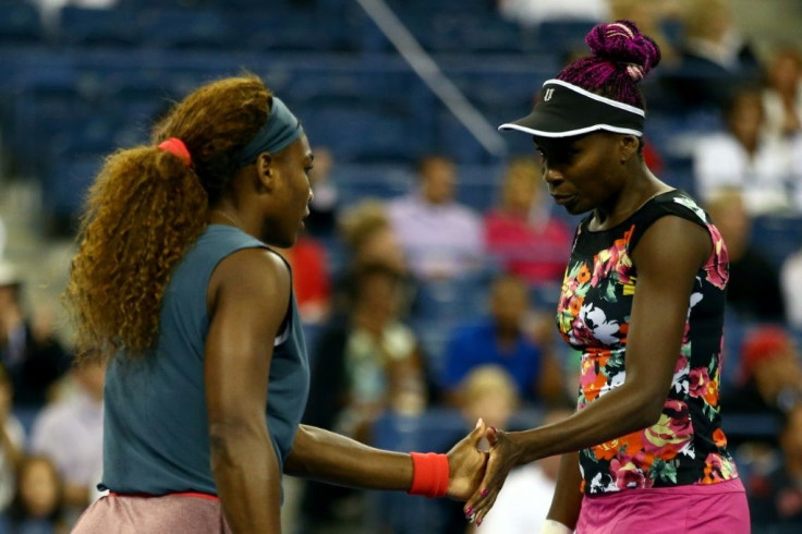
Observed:
[[[281,473],[265,416],[290,275],[275,254],[240,251],[209,281],[204,375],[211,471],[233,533],[281,532]]]

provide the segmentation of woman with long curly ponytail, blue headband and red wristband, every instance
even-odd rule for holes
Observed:
[[[179,102],[93,185],[65,301],[78,362],[108,361],[104,474],[74,532],[281,532],[281,474],[466,498],[483,424],[448,454],[300,425],[309,368],[269,245],[308,215],[313,154],[256,76]]]

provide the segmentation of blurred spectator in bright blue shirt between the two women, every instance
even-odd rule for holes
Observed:
[[[526,284],[512,275],[494,280],[489,315],[458,327],[449,337],[442,376],[443,390],[459,405],[459,387],[482,365],[499,365],[514,379],[525,401],[555,401],[562,395],[559,369],[524,332],[528,312]]]

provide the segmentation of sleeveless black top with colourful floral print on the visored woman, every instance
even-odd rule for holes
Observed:
[[[576,230],[557,323],[564,340],[582,353],[579,410],[624,381],[627,331],[637,289],[631,254],[646,229],[668,215],[705,227],[713,253],[696,275],[682,348],[659,421],[580,451],[586,495],[738,477],[718,404],[727,248],[707,214],[681,191],[655,196],[612,229],[588,231],[587,217]]]

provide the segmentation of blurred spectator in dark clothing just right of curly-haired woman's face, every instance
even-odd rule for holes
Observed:
[[[314,167],[309,173],[312,191],[315,194],[309,204],[306,231],[315,238],[331,238],[337,229],[338,193],[331,181],[335,157],[328,148],[318,146],[313,150]]]

